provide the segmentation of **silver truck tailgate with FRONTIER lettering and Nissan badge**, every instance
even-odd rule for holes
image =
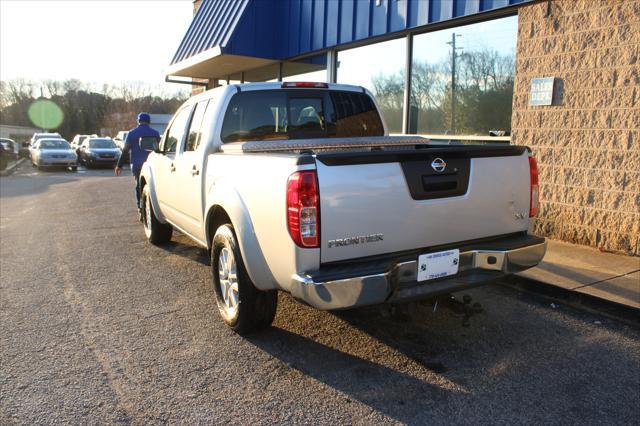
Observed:
[[[527,157],[518,146],[318,154],[321,262],[527,230]]]

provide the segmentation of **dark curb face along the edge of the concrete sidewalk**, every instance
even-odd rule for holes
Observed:
[[[640,309],[628,305],[519,275],[504,277],[500,280],[500,283],[507,287],[536,294],[554,302],[562,303],[592,314],[602,315],[626,325],[640,328]]]

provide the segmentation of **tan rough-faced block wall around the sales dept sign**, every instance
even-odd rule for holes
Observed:
[[[534,232],[640,255],[640,0],[554,0],[518,12],[512,139],[538,159]],[[557,105],[530,107],[557,77]]]

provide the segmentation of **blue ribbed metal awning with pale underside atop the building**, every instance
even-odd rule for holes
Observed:
[[[202,0],[169,74],[221,77],[535,0]]]

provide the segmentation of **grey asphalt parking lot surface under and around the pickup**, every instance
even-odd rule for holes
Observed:
[[[0,179],[0,423],[637,424],[640,331],[499,284],[484,312],[219,319],[206,251],[154,247],[130,175]]]

